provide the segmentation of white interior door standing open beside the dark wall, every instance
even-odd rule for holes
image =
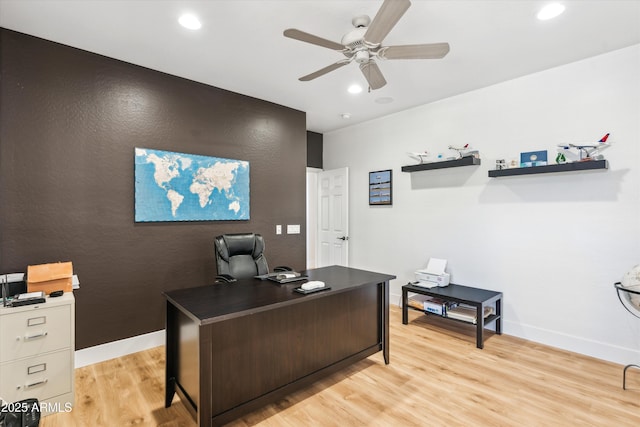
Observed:
[[[318,174],[318,267],[349,265],[349,168]]]

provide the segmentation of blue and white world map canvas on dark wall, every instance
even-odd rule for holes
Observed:
[[[135,149],[135,221],[249,219],[249,162]]]

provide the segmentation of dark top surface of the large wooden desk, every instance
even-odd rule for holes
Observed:
[[[195,288],[164,292],[167,301],[201,324],[257,313],[278,306],[295,304],[310,298],[322,298],[346,290],[388,282],[396,276],[330,266],[301,272],[309,280],[321,280],[331,289],[303,295],[294,292],[304,281],[278,284],[271,280],[239,279],[233,283],[216,283]]]

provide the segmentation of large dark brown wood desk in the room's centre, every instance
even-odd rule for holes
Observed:
[[[304,272],[331,289],[257,279],[166,292],[166,394],[220,425],[378,351],[389,363],[389,280],[347,267]]]

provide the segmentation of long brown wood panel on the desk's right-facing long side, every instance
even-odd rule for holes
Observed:
[[[380,345],[378,285],[207,325],[216,416]]]

